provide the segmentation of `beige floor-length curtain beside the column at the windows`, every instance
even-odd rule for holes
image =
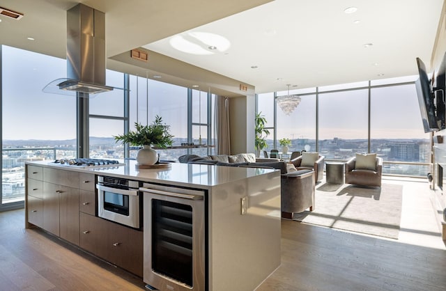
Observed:
[[[217,134],[217,155],[231,154],[229,131],[229,98],[215,95],[215,133]]]

